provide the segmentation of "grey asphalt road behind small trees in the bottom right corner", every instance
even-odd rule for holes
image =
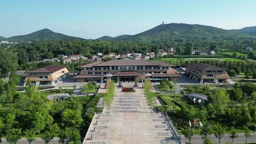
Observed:
[[[219,139],[215,137],[214,135],[210,135],[210,139],[215,143],[219,144]],[[182,136],[183,142],[188,143],[188,139]],[[202,144],[204,139],[201,139],[201,136],[193,136],[191,138],[191,144]],[[240,144],[240,143],[245,143],[246,137],[244,134],[238,134],[237,138],[234,138],[234,143]],[[229,135],[225,135],[220,139],[220,144],[225,144],[227,142],[232,142],[232,139],[229,137]],[[255,142],[255,135],[251,134],[250,137],[247,137],[247,143],[253,143]]]

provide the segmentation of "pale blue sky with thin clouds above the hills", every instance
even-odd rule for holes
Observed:
[[[0,0],[0,36],[48,28],[82,38],[134,35],[166,23],[256,26],[256,0]]]

